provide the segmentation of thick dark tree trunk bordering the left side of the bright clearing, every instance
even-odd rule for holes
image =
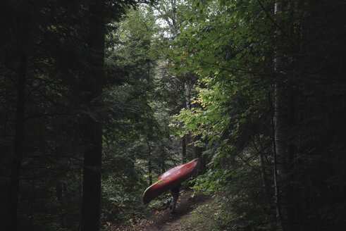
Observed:
[[[87,45],[91,52],[85,72],[86,92],[82,103],[94,113],[85,123],[85,153],[82,191],[82,231],[98,231],[101,204],[102,127],[97,120],[94,100],[101,95],[104,65],[104,1],[92,0],[89,4],[89,30]]]

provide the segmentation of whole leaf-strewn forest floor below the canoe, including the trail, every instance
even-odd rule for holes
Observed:
[[[191,213],[197,206],[203,204],[209,204],[214,199],[211,196],[204,194],[195,194],[192,196],[191,189],[185,189],[180,194],[177,206],[175,207],[176,213],[171,214],[169,208],[166,210],[152,209],[146,218],[142,218],[136,224],[128,225],[127,227],[121,227],[114,229],[126,230],[126,231],[185,231],[194,230],[190,225]],[[113,231],[113,229],[107,229],[107,231]]]

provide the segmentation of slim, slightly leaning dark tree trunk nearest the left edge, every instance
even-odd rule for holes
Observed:
[[[11,168],[10,189],[8,198],[8,230],[18,230],[18,196],[19,179],[24,146],[24,109],[25,85],[27,75],[27,54],[22,51],[18,71],[16,134],[14,138],[14,156]]]

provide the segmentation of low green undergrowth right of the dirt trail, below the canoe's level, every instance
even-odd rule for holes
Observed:
[[[251,158],[253,151],[249,149],[240,154],[235,159],[236,166],[218,166],[197,177],[194,189],[217,197],[213,204],[194,211],[192,223],[209,223],[209,230],[229,227],[234,230],[274,230],[274,204],[264,191],[259,162],[257,158]]]

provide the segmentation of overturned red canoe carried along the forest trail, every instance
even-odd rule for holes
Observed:
[[[156,198],[163,192],[168,191],[172,187],[178,186],[181,182],[187,180],[200,166],[199,158],[195,158],[189,163],[171,168],[166,173],[160,175],[153,185],[148,187],[143,194],[144,204],[148,204],[152,199]]]

